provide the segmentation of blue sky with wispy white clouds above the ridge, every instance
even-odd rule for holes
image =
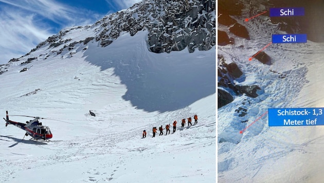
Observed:
[[[94,24],[141,0],[0,0],[0,64],[20,58],[62,28]]]

